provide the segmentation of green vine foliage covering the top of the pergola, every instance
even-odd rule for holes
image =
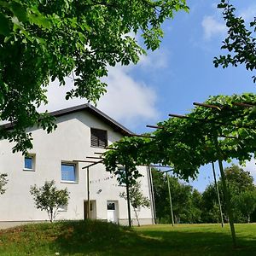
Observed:
[[[256,150],[256,95],[212,96],[205,103],[216,108],[194,108],[183,119],[169,118],[150,137],[125,137],[104,154],[109,172],[129,164],[136,178],[136,166],[160,163],[188,180],[200,166],[216,160],[251,160]],[[251,105],[250,105],[251,106]]]

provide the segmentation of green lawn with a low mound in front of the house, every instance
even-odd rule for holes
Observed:
[[[128,229],[99,221],[0,230],[0,255],[256,255],[256,224],[159,224]]]

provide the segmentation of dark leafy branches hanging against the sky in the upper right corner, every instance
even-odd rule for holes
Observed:
[[[231,54],[220,55],[214,58],[214,65],[218,67],[237,67],[244,64],[247,70],[253,71],[256,68],[256,17],[250,22],[250,30],[245,25],[245,20],[237,17],[236,8],[228,0],[221,0],[219,9],[223,9],[224,20],[228,27],[228,37],[224,39],[221,49],[227,49]],[[254,37],[253,37],[254,36]],[[256,76],[253,76],[256,82]]]

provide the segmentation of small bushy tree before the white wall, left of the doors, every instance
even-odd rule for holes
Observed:
[[[57,189],[54,180],[45,181],[41,188],[38,188],[37,185],[31,186],[30,193],[36,207],[48,213],[50,222],[55,220],[58,209],[61,206],[66,206],[69,199],[67,188]]]

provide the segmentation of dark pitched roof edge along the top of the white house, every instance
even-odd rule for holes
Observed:
[[[119,131],[120,133],[122,133],[125,136],[134,134],[132,131],[125,128],[125,126],[119,124],[117,121],[110,118],[106,113],[103,113],[98,108],[95,108],[92,105],[90,105],[90,103],[82,104],[82,105],[75,106],[72,108],[64,108],[61,110],[51,112],[49,114],[57,118],[62,115],[66,115],[69,113],[75,113],[75,112],[79,112],[79,111],[83,111],[83,110],[85,110],[89,113],[92,113],[94,116],[96,116],[99,119],[102,119],[102,121],[104,121],[106,124],[110,125],[114,131]],[[5,125],[1,125],[1,126],[5,129],[10,129],[14,125],[9,123],[9,124],[5,124]]]

